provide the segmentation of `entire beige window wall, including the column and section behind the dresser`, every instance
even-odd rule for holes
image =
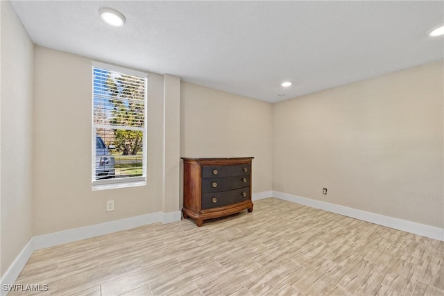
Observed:
[[[271,190],[271,104],[150,73],[148,186],[92,191],[91,89],[88,58],[37,46],[34,235],[178,211],[179,153],[253,156],[253,193]],[[107,213],[111,199],[116,210]]]

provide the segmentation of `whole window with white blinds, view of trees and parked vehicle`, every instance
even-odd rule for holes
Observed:
[[[93,189],[146,184],[146,80],[146,73],[93,62]]]

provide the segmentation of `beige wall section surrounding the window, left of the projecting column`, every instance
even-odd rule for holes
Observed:
[[[101,191],[91,189],[91,80],[88,58],[37,46],[34,235],[164,211],[163,76],[148,74],[147,186]],[[105,211],[106,200],[115,211]]]

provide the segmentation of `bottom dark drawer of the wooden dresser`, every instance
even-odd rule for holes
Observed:
[[[250,187],[202,195],[202,209],[223,207],[250,200]]]

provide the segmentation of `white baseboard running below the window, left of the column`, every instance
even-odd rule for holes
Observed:
[[[44,249],[45,247],[53,247],[54,245],[61,245],[63,243],[80,241],[85,238],[92,238],[94,236],[101,236],[103,234],[110,234],[112,232],[119,232],[121,230],[131,229],[160,221],[161,215],[160,212],[157,212],[96,225],[68,229],[62,232],[42,234],[40,236],[34,236],[35,250]]]

